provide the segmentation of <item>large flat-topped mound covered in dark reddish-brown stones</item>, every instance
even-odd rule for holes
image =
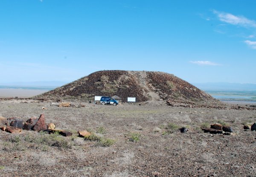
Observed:
[[[44,100],[93,101],[94,96],[136,97],[137,102],[165,102],[193,107],[195,104],[220,103],[209,94],[163,72],[104,70],[92,73],[55,90],[36,96]]]

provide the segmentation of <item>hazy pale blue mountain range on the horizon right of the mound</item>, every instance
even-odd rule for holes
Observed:
[[[256,84],[240,84],[228,82],[192,83],[201,90],[256,90]]]

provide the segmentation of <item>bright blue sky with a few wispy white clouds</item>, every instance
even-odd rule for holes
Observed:
[[[256,0],[0,0],[0,83],[98,70],[256,84]]]

